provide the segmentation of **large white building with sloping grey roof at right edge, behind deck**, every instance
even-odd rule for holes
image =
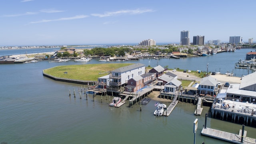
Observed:
[[[230,84],[226,91],[226,98],[256,104],[256,72],[244,76],[240,84]]]

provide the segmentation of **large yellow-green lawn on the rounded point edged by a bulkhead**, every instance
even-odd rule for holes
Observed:
[[[56,66],[44,70],[44,73],[59,78],[70,78],[75,80],[98,80],[99,77],[108,75],[108,71],[132,64],[83,64]],[[68,72],[68,74],[64,74]],[[104,73],[104,74],[99,74]]]

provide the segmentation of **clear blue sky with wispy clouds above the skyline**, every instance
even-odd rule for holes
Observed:
[[[256,0],[0,0],[0,46],[256,39]],[[254,40],[255,41],[255,40]]]

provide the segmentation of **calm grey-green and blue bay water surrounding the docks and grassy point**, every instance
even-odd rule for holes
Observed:
[[[169,68],[203,70],[209,63],[209,71],[232,71],[238,59],[244,59],[247,50],[234,53],[221,53],[200,58],[181,58],[151,60],[143,59],[146,66],[168,65]],[[234,58],[235,57],[235,58]],[[138,61],[128,61],[138,62]],[[120,108],[108,106],[109,98],[92,96],[86,100],[84,94],[79,98],[80,84],[57,82],[42,76],[42,70],[57,65],[92,64],[87,63],[48,63],[47,61],[31,64],[0,65],[0,142],[8,144],[34,143],[193,143],[193,122],[198,118],[196,143],[225,143],[201,136],[205,113],[209,107],[204,106],[202,116],[195,116],[195,106],[180,102],[168,117],[155,117],[155,101],[146,106],[133,108],[124,104]],[[246,70],[234,73],[246,74]],[[83,86],[84,88],[84,86]],[[76,98],[69,97],[69,90],[76,91]],[[112,98],[110,97],[112,100]],[[170,104],[170,103],[166,103]],[[208,118],[207,127],[238,134],[242,128],[239,124]],[[245,127],[247,136],[256,138],[256,128]]]

